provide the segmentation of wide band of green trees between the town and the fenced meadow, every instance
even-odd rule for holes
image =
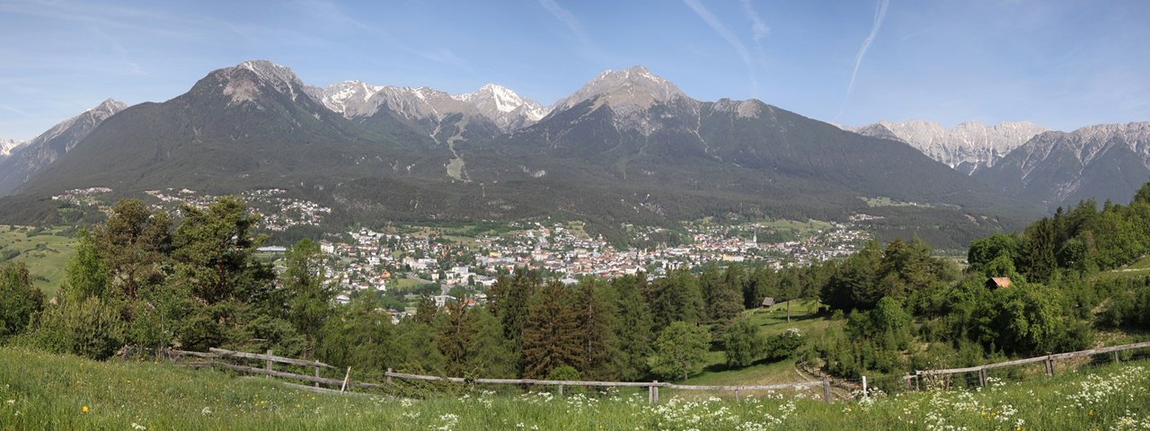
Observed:
[[[312,240],[279,269],[260,260],[256,221],[235,198],[184,206],[176,221],[122,200],[78,232],[55,298],[20,263],[0,268],[0,341],[97,359],[125,345],[271,348],[363,372],[666,380],[702,372],[712,351],[727,368],[798,355],[858,376],[1080,349],[1098,330],[1150,328],[1150,278],[1099,277],[1150,248],[1150,185],[1128,206],[1086,201],[977,239],[966,268],[912,238],[779,270],[707,264],[574,285],[519,270],[499,277],[488,303],[438,308],[424,295],[397,324],[377,295],[336,303]],[[745,310],[767,297],[788,303],[788,318],[789,301],[805,299],[823,305],[812,317],[842,323],[764,337]]]

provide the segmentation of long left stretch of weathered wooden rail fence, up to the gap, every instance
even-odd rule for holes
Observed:
[[[829,380],[815,380],[815,382],[802,382],[791,384],[779,384],[779,385],[735,385],[735,386],[700,386],[700,385],[678,385],[666,382],[584,382],[584,380],[540,380],[530,378],[460,378],[460,377],[439,377],[439,376],[423,376],[423,375],[412,375],[404,372],[393,372],[388,369],[384,372],[386,377],[385,384],[376,383],[365,383],[365,382],[353,382],[351,377],[351,368],[345,372],[344,379],[335,379],[320,377],[321,368],[334,368],[329,364],[319,361],[305,361],[291,357],[276,356],[271,351],[267,354],[259,353],[246,353],[228,351],[223,348],[210,348],[208,353],[202,352],[186,352],[186,351],[168,351],[170,357],[181,356],[192,356],[198,359],[207,359],[208,361],[197,361],[189,362],[185,365],[190,367],[216,367],[228,370],[250,372],[264,375],[270,377],[290,378],[304,382],[312,382],[315,387],[299,386],[306,390],[313,390],[316,392],[331,392],[332,390],[320,388],[321,384],[339,387],[339,392],[344,392],[347,387],[361,387],[361,388],[385,388],[393,384],[392,379],[406,379],[406,380],[423,380],[423,382],[450,382],[460,384],[471,384],[471,385],[524,385],[524,386],[553,386],[558,387],[559,394],[562,395],[564,387],[576,386],[576,387],[646,387],[647,388],[647,402],[659,402],[659,388],[666,387],[672,390],[682,391],[729,391],[734,392],[735,400],[742,400],[742,394],[749,391],[781,391],[781,390],[798,390],[813,386],[822,386],[822,398],[826,402],[831,402],[830,394],[830,382]],[[243,357],[250,360],[264,361],[263,368],[238,365],[233,363],[223,362],[221,360],[230,357]],[[277,371],[273,368],[273,363],[286,363],[299,367],[312,367],[315,369],[314,376],[300,375],[288,371]]]

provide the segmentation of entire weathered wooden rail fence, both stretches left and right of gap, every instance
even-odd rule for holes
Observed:
[[[1070,353],[1057,353],[1057,354],[1050,354],[1050,355],[1044,355],[1044,356],[1036,356],[1036,357],[1028,357],[1028,359],[1021,359],[1021,360],[1014,360],[1014,361],[989,363],[989,364],[984,364],[984,365],[968,367],[968,368],[953,368],[953,369],[944,369],[944,370],[917,370],[917,371],[914,371],[914,374],[907,372],[905,376],[903,376],[903,379],[905,380],[907,390],[919,390],[919,388],[921,388],[920,384],[921,384],[921,379],[922,379],[923,376],[949,376],[949,375],[963,374],[963,372],[977,372],[979,374],[979,384],[981,386],[986,386],[987,385],[987,370],[990,370],[990,369],[1003,368],[1003,367],[1013,367],[1013,365],[1023,365],[1023,364],[1029,364],[1029,363],[1042,362],[1044,364],[1044,367],[1045,367],[1045,374],[1052,376],[1055,374],[1055,361],[1058,361],[1058,360],[1067,360],[1067,359],[1074,359],[1074,357],[1087,357],[1087,356],[1092,356],[1092,355],[1112,353],[1113,354],[1113,360],[1117,362],[1119,360],[1119,355],[1118,355],[1119,352],[1138,349],[1138,348],[1147,348],[1147,347],[1150,347],[1150,341],[1147,341],[1147,343],[1135,343],[1135,344],[1128,344],[1128,345],[1121,345],[1121,346],[1101,347],[1101,348],[1092,348],[1092,349],[1088,349],[1088,351],[1079,351],[1079,352],[1070,352]],[[343,379],[321,377],[320,376],[320,370],[321,369],[324,369],[324,368],[327,368],[327,369],[335,369],[335,367],[331,367],[329,364],[325,364],[325,363],[319,362],[319,361],[306,361],[306,360],[298,360],[298,359],[292,359],[292,357],[276,356],[276,355],[273,354],[271,351],[268,351],[266,354],[259,354],[259,353],[246,353],[246,352],[228,351],[228,349],[223,349],[223,348],[210,348],[207,353],[169,349],[169,351],[167,351],[167,354],[169,355],[169,357],[174,357],[174,359],[175,357],[182,357],[182,356],[191,356],[191,357],[198,357],[198,359],[201,359],[201,360],[204,360],[204,359],[207,360],[207,361],[197,361],[197,362],[185,363],[185,365],[191,365],[191,367],[216,367],[216,368],[223,368],[223,369],[239,371],[239,372],[250,372],[250,374],[264,375],[264,376],[269,376],[269,377],[281,377],[281,378],[289,378],[289,379],[297,379],[297,380],[310,382],[310,383],[314,384],[314,387],[307,387],[307,386],[297,386],[297,387],[309,390],[309,391],[315,391],[315,392],[334,392],[334,390],[321,388],[320,387],[321,384],[322,385],[329,385],[329,386],[332,386],[332,387],[339,387],[339,392],[345,392],[348,387],[386,388],[386,387],[390,387],[390,386],[393,385],[393,380],[392,379],[404,379],[404,380],[423,380],[423,382],[448,382],[448,383],[471,384],[471,385],[478,384],[478,385],[553,386],[553,387],[558,387],[560,395],[562,395],[564,387],[566,387],[566,386],[576,386],[576,387],[646,387],[647,388],[647,402],[652,402],[652,403],[659,402],[659,388],[660,387],[670,388],[670,390],[681,390],[681,391],[720,391],[720,392],[734,392],[735,400],[736,401],[741,401],[742,400],[742,395],[741,394],[745,394],[749,391],[782,391],[782,390],[800,390],[800,388],[807,388],[807,387],[814,387],[814,386],[822,386],[822,398],[823,398],[823,401],[831,402],[831,400],[833,400],[831,392],[830,392],[830,380],[828,380],[826,378],[823,378],[821,380],[802,382],[802,383],[790,383],[790,384],[779,384],[779,385],[705,386],[705,385],[678,385],[678,384],[666,383],[666,382],[583,382],[583,380],[540,380],[540,379],[530,379],[530,378],[461,378],[461,377],[439,377],[439,376],[423,376],[423,375],[413,375],[413,374],[404,374],[404,372],[393,372],[389,368],[388,371],[384,372],[384,377],[386,378],[386,383],[378,384],[378,383],[366,383],[366,382],[354,382],[354,380],[351,380],[351,367],[348,367],[347,370],[344,372],[344,378]],[[250,359],[250,360],[263,361],[264,364],[263,364],[263,368],[258,368],[258,367],[239,365],[239,364],[233,364],[233,363],[228,363],[228,362],[223,362],[222,361],[222,360],[232,359],[232,357],[240,357],[240,359]],[[314,372],[314,376],[307,376],[307,375],[300,375],[300,374],[288,372],[288,371],[277,371],[273,367],[274,363],[285,363],[285,364],[291,364],[291,365],[297,365],[297,367],[309,367],[309,368],[314,368],[315,372]],[[866,377],[862,377],[862,393],[864,394],[867,393],[867,383],[866,382],[867,382]]]

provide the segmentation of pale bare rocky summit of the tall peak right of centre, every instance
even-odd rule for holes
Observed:
[[[675,84],[651,74],[645,67],[635,66],[623,70],[603,71],[572,95],[555,102],[552,110],[568,109],[593,98],[599,98],[615,113],[626,116],[656,102],[685,99],[687,94]]]

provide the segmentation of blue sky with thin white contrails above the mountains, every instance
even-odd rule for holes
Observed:
[[[106,98],[164,101],[250,59],[310,85],[497,83],[544,105],[643,64],[696,99],[842,124],[1073,130],[1150,121],[1147,23],[1140,0],[0,0],[0,137]]]

